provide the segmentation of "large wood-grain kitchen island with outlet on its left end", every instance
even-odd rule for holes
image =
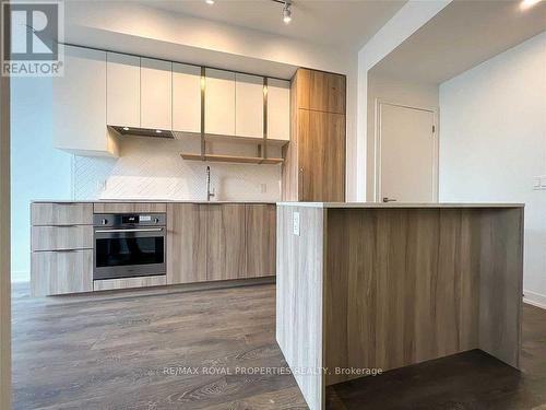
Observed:
[[[523,204],[277,203],[276,339],[325,386],[480,349],[519,366]]]

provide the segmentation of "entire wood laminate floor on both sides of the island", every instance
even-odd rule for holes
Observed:
[[[275,342],[273,284],[124,297],[13,290],[14,409],[306,409]],[[198,374],[176,374],[199,367]],[[235,374],[202,374],[229,368]],[[525,305],[523,371],[472,351],[329,387],[329,409],[546,410],[546,311]]]

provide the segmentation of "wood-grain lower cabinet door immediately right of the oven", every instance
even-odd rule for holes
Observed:
[[[167,283],[206,281],[206,204],[167,204]]]

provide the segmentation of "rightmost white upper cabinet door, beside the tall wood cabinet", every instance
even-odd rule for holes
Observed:
[[[268,138],[290,140],[290,82],[268,79]]]

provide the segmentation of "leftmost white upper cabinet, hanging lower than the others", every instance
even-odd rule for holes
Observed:
[[[118,155],[106,128],[106,52],[66,46],[64,75],[52,79],[54,145],[79,155]]]

